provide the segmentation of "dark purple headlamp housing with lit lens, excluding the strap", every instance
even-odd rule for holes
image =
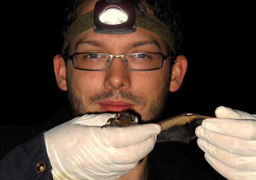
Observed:
[[[93,13],[95,33],[132,33],[136,30],[133,1],[97,1]]]

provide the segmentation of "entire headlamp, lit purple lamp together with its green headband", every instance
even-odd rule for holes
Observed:
[[[65,34],[62,53],[74,37],[91,27],[96,33],[119,34],[132,33],[136,30],[136,26],[162,37],[175,55],[175,39],[171,30],[149,13],[143,12],[143,16],[135,17],[132,0],[97,1],[93,11],[77,18],[69,27]]]

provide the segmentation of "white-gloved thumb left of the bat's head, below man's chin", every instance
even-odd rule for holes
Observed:
[[[81,117],[77,117],[72,119],[70,124],[80,124],[80,125],[85,125],[85,126],[103,126],[106,124],[107,120],[109,118],[114,118],[115,114],[109,114],[109,113],[104,113],[104,114],[86,114]]]

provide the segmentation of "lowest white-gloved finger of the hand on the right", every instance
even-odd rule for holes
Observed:
[[[222,176],[227,179],[256,179],[256,172],[244,172],[224,165],[205,153],[206,161]]]

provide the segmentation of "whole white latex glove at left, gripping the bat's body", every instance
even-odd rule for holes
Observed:
[[[77,117],[45,133],[54,179],[115,179],[153,149],[161,126],[106,127],[115,114]]]

